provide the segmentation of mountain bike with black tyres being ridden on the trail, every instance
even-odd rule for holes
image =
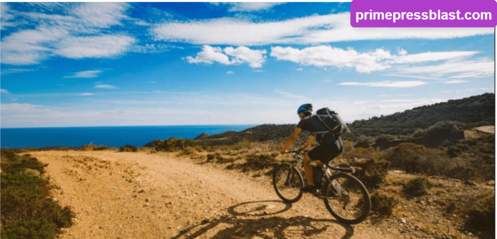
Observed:
[[[299,149],[286,152],[291,153],[294,160],[276,166],[273,173],[273,186],[281,200],[286,203],[295,203],[302,197],[303,192],[300,189],[304,187],[302,174],[295,165],[300,164],[302,171],[304,158]],[[371,210],[371,199],[364,184],[351,175],[355,172],[354,169],[328,164],[322,170],[323,179],[326,178],[326,181],[321,190],[313,195],[323,199],[328,211],[338,221],[346,224],[358,224],[364,221]],[[332,174],[332,170],[337,173]]]

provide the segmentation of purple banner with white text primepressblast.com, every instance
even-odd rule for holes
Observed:
[[[352,27],[496,27],[496,0],[352,0]]]

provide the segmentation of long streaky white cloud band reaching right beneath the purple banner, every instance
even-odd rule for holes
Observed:
[[[490,28],[353,28],[350,12],[272,22],[237,18],[171,21],[151,28],[151,33],[158,41],[238,46],[386,39],[434,40],[494,34]],[[400,52],[402,54],[403,51]]]

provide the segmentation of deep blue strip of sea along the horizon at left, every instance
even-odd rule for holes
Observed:
[[[241,131],[255,125],[106,126],[53,128],[0,128],[1,148],[79,147],[85,144],[141,147],[154,139],[193,139],[228,130]]]

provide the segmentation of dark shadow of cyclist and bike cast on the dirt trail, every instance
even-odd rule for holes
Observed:
[[[194,239],[206,235],[210,230],[220,227],[213,239],[287,239],[320,235],[328,230],[331,224],[345,229],[341,239],[352,237],[354,229],[331,219],[315,219],[304,216],[283,218],[275,216],[292,208],[291,204],[282,201],[244,202],[228,208],[231,216],[224,216],[213,221],[190,226],[171,239]],[[338,236],[337,233],[333,234]]]

